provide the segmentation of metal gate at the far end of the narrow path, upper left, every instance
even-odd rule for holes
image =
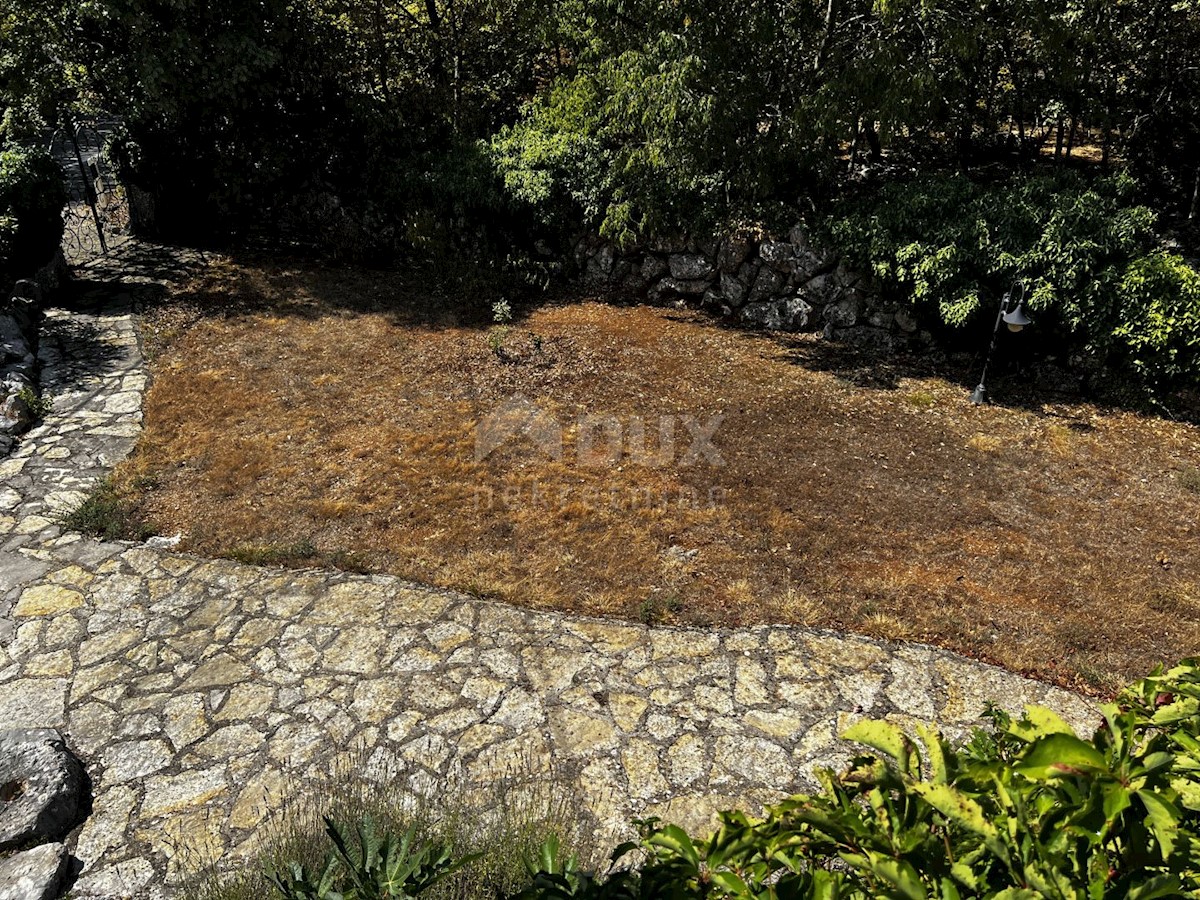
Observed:
[[[118,121],[97,119],[54,132],[50,155],[67,188],[62,254],[72,265],[106,256],[130,234],[130,204],[104,152]]]

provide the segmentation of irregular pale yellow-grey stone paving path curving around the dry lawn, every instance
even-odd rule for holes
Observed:
[[[54,410],[0,460],[0,726],[60,728],[84,761],[74,896],[161,895],[200,857],[251,852],[288,784],[347,760],[412,791],[553,761],[616,836],[634,815],[703,828],[800,790],[848,758],[836,736],[862,716],[961,734],[994,698],[1094,720],[1070,692],[924,646],[648,629],[64,533],[140,430],[131,295],[100,293],[115,300],[49,311]]]

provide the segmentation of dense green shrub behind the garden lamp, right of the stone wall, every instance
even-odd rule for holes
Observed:
[[[1039,330],[1168,389],[1200,374],[1200,274],[1158,247],[1124,175],[893,182],[841,205],[835,241],[896,299],[958,326],[1014,280]]]

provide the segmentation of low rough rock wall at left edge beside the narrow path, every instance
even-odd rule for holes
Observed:
[[[29,401],[38,392],[42,296],[66,277],[66,263],[59,252],[32,278],[18,281],[12,296],[0,302],[0,456],[7,456],[17,436],[37,420],[37,410]]]

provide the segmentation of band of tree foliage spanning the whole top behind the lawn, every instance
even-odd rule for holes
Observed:
[[[946,322],[1021,275],[1092,348],[1194,362],[1153,232],[1200,217],[1200,0],[7,0],[0,36],[0,140],[119,114],[164,235],[505,258],[812,223],[865,180],[846,239]]]

